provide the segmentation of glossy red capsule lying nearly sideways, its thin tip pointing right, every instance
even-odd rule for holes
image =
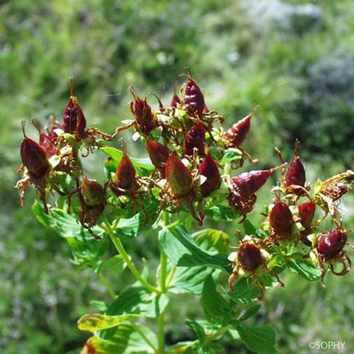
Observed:
[[[232,185],[243,198],[249,198],[265,184],[274,171],[282,168],[282,166],[284,165],[269,170],[241,173],[231,179]]]

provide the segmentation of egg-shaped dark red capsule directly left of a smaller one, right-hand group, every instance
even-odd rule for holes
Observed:
[[[270,226],[275,234],[291,234],[294,219],[289,206],[285,202],[276,202],[269,214]]]

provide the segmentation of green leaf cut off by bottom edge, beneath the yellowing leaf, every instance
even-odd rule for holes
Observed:
[[[146,354],[156,352],[157,338],[146,326],[125,322],[114,331],[101,331],[99,336],[91,337],[91,345],[98,354]]]

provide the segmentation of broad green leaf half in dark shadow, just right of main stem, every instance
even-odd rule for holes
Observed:
[[[202,250],[182,226],[161,229],[159,244],[166,252],[166,256],[176,265],[184,267],[207,265],[212,268],[224,268],[231,272],[227,254],[211,254]]]

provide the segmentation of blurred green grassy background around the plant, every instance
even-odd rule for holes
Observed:
[[[74,76],[89,124],[113,132],[131,118],[130,85],[169,103],[183,81],[178,74],[190,67],[207,106],[227,125],[260,105],[245,144],[258,168],[278,164],[275,146],[290,159],[299,137],[308,180],[325,179],[354,168],[353,18],[351,0],[1,1],[1,353],[79,353],[89,334],[76,329],[76,320],[96,311],[92,299],[109,300],[97,275],[72,264],[65,241],[35,221],[33,191],[19,207],[13,185],[21,119],[61,120]],[[149,102],[156,105],[152,96]],[[30,125],[28,135],[36,136]],[[138,144],[128,149],[139,152]],[[93,154],[89,175],[103,178],[102,159]],[[260,207],[270,198],[261,193]],[[353,201],[352,193],[341,204],[352,229]],[[260,220],[259,210],[251,219]],[[234,234],[237,224],[219,227]],[[156,245],[144,245],[141,236],[127,247],[156,263]],[[107,277],[116,289],[130,280],[128,273]],[[287,286],[266,293],[256,319],[278,329],[280,353],[310,353],[309,341],[346,341],[344,352],[353,353],[353,272],[327,276],[325,289],[297,275],[283,278]],[[198,300],[176,297],[167,316],[171,343],[190,338],[185,314],[202,316]],[[224,346],[246,353],[238,343]]]

